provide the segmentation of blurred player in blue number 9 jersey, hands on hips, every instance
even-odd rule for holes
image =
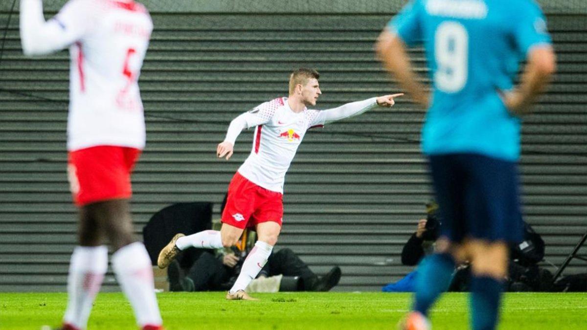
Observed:
[[[424,43],[433,92],[417,82],[406,44]],[[377,52],[414,102],[428,107],[422,147],[443,218],[437,252],[421,263],[406,329],[427,329],[455,261],[470,260],[473,329],[497,325],[507,242],[521,238],[519,115],[544,90],[555,55],[531,0],[414,0],[390,21]],[[514,86],[520,58],[527,59]]]

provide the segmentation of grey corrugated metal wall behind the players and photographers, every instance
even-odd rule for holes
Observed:
[[[0,9],[4,30],[10,8]],[[168,204],[220,203],[252,130],[231,161],[215,159],[216,144],[233,117],[285,95],[292,69],[321,72],[320,109],[396,92],[372,49],[390,16],[153,13],[140,79],[147,148],[133,177],[137,235]],[[587,230],[586,22],[585,12],[549,15],[558,73],[524,124],[526,220],[556,265]],[[23,58],[17,12],[0,56],[0,291],[65,291],[76,241],[65,174],[68,53]],[[420,49],[413,58],[424,72]],[[421,121],[399,100],[308,134],[286,177],[278,245],[318,273],[340,265],[339,290],[377,290],[409,272],[399,253],[430,198]],[[579,271],[579,261],[568,268]],[[116,289],[112,274],[105,287]]]

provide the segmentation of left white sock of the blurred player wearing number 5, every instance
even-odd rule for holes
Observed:
[[[68,307],[63,322],[85,329],[92,303],[100,291],[108,268],[108,249],[104,246],[73,250],[68,275]]]

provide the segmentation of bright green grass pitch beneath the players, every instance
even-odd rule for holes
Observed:
[[[226,301],[224,292],[157,294],[167,330],[395,329],[410,294],[298,292],[256,294],[261,301]],[[0,329],[59,325],[63,293],[0,294]],[[433,329],[467,329],[467,295],[445,294],[431,313]],[[500,329],[587,329],[587,294],[506,294]],[[120,293],[99,294],[88,329],[136,329]]]

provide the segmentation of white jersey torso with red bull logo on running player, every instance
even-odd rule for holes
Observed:
[[[295,113],[287,97],[262,103],[248,112],[247,127],[255,128],[251,154],[238,172],[263,188],[283,193],[289,169],[306,131],[321,127],[325,118],[320,110],[303,109]]]

